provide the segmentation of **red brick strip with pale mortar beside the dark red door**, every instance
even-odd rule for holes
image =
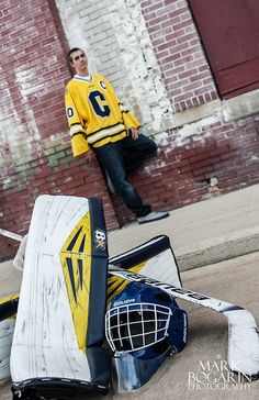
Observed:
[[[217,98],[200,36],[185,0],[142,0],[161,75],[176,112]]]

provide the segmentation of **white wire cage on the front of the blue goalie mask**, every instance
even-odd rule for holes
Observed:
[[[105,315],[105,335],[113,352],[133,352],[151,346],[167,336],[171,310],[155,303],[114,307]]]

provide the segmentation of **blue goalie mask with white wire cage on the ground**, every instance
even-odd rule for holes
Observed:
[[[188,319],[159,288],[131,282],[115,296],[105,315],[120,392],[143,386],[169,355],[187,343]]]

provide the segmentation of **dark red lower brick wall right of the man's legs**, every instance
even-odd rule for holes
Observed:
[[[172,210],[259,184],[259,115],[198,127],[180,138],[168,132],[159,156],[132,177],[155,210]],[[167,143],[167,144],[166,144]],[[218,184],[211,186],[211,178]],[[124,223],[133,221],[122,203]]]

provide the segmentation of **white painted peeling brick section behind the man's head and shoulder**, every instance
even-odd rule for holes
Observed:
[[[138,0],[56,0],[70,47],[82,47],[92,73],[106,76],[140,119],[162,132],[172,119]]]

